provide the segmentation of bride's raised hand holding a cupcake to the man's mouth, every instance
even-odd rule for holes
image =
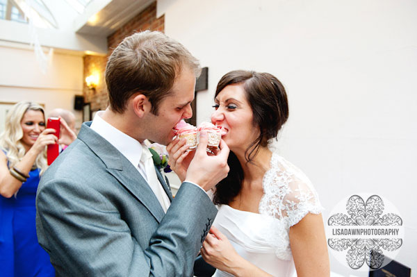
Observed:
[[[195,154],[195,151],[186,151],[187,149],[186,140],[179,140],[178,137],[167,145],[167,152],[170,157],[168,165],[178,175],[181,182],[186,179],[188,166]]]

